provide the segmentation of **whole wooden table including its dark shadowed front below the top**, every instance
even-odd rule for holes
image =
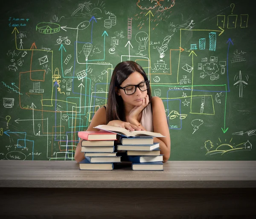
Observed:
[[[0,160],[0,217],[12,219],[255,218],[255,191],[256,161],[84,171],[75,161]]]

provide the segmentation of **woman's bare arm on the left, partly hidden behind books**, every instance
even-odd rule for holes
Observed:
[[[106,110],[105,107],[99,108],[96,113],[93,116],[92,121],[90,122],[89,127],[86,131],[99,131],[98,128],[93,128],[97,125],[106,125]],[[84,153],[81,153],[81,141],[83,139],[80,139],[78,145],[76,146],[76,152],[75,152],[75,160],[76,162],[80,162],[84,159]]]

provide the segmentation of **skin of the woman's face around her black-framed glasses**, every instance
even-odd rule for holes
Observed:
[[[143,81],[145,81],[144,77],[139,72],[134,71],[126,80],[122,82],[120,86],[125,87],[127,85],[137,85]],[[142,104],[143,98],[145,98],[147,95],[147,90],[141,91],[139,88],[136,88],[134,94],[127,95],[123,89],[119,89],[118,95],[122,97],[126,104],[140,106]]]

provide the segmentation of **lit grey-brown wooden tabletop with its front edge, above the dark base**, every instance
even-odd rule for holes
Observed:
[[[255,188],[256,161],[169,161],[164,171],[84,171],[75,161],[0,160],[0,187]]]

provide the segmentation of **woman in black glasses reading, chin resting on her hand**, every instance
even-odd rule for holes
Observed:
[[[143,68],[133,61],[124,61],[114,68],[108,104],[96,111],[87,131],[99,131],[93,127],[106,124],[130,131],[146,130],[161,133],[166,137],[155,137],[154,142],[160,143],[163,162],[168,161],[171,139],[163,101],[159,97],[151,97],[147,75]],[[81,153],[81,140],[76,147],[76,162],[84,159],[84,153]]]

